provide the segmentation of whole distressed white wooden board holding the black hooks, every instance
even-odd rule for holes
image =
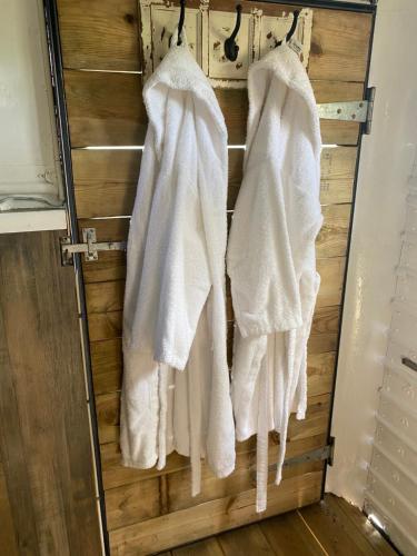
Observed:
[[[165,0],[139,0],[143,44],[143,77],[147,79],[168,52],[178,26],[180,10]],[[259,9],[241,16],[235,62],[225,57],[225,40],[230,37],[236,13],[209,10],[208,0],[199,8],[186,8],[185,32],[188,46],[214,87],[245,88],[251,62],[275,48],[288,33],[292,13],[274,18]],[[295,37],[301,44],[300,58],[307,67],[311,42],[312,10],[302,9]]]

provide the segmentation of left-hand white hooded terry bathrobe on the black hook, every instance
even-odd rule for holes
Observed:
[[[149,117],[130,224],[121,450],[162,468],[173,449],[218,477],[235,467],[226,353],[227,130],[212,88],[173,37],[143,87]]]

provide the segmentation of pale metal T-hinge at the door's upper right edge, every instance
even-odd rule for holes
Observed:
[[[322,120],[357,121],[364,123],[364,133],[370,133],[373,122],[375,87],[367,90],[365,100],[351,102],[328,102],[317,105],[318,113]]]

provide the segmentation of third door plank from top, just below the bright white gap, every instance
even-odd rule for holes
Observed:
[[[131,215],[140,170],[139,150],[72,150],[79,218]],[[321,153],[322,205],[350,202],[356,147],[325,148]],[[228,209],[235,207],[242,179],[242,149],[229,149]]]

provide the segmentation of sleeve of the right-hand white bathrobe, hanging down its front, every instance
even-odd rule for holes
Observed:
[[[251,76],[252,81],[257,76]],[[251,87],[245,178],[228,247],[234,309],[242,337],[302,325],[300,279],[314,265],[321,226],[319,150],[310,106],[279,79]],[[317,141],[318,140],[318,141]]]

